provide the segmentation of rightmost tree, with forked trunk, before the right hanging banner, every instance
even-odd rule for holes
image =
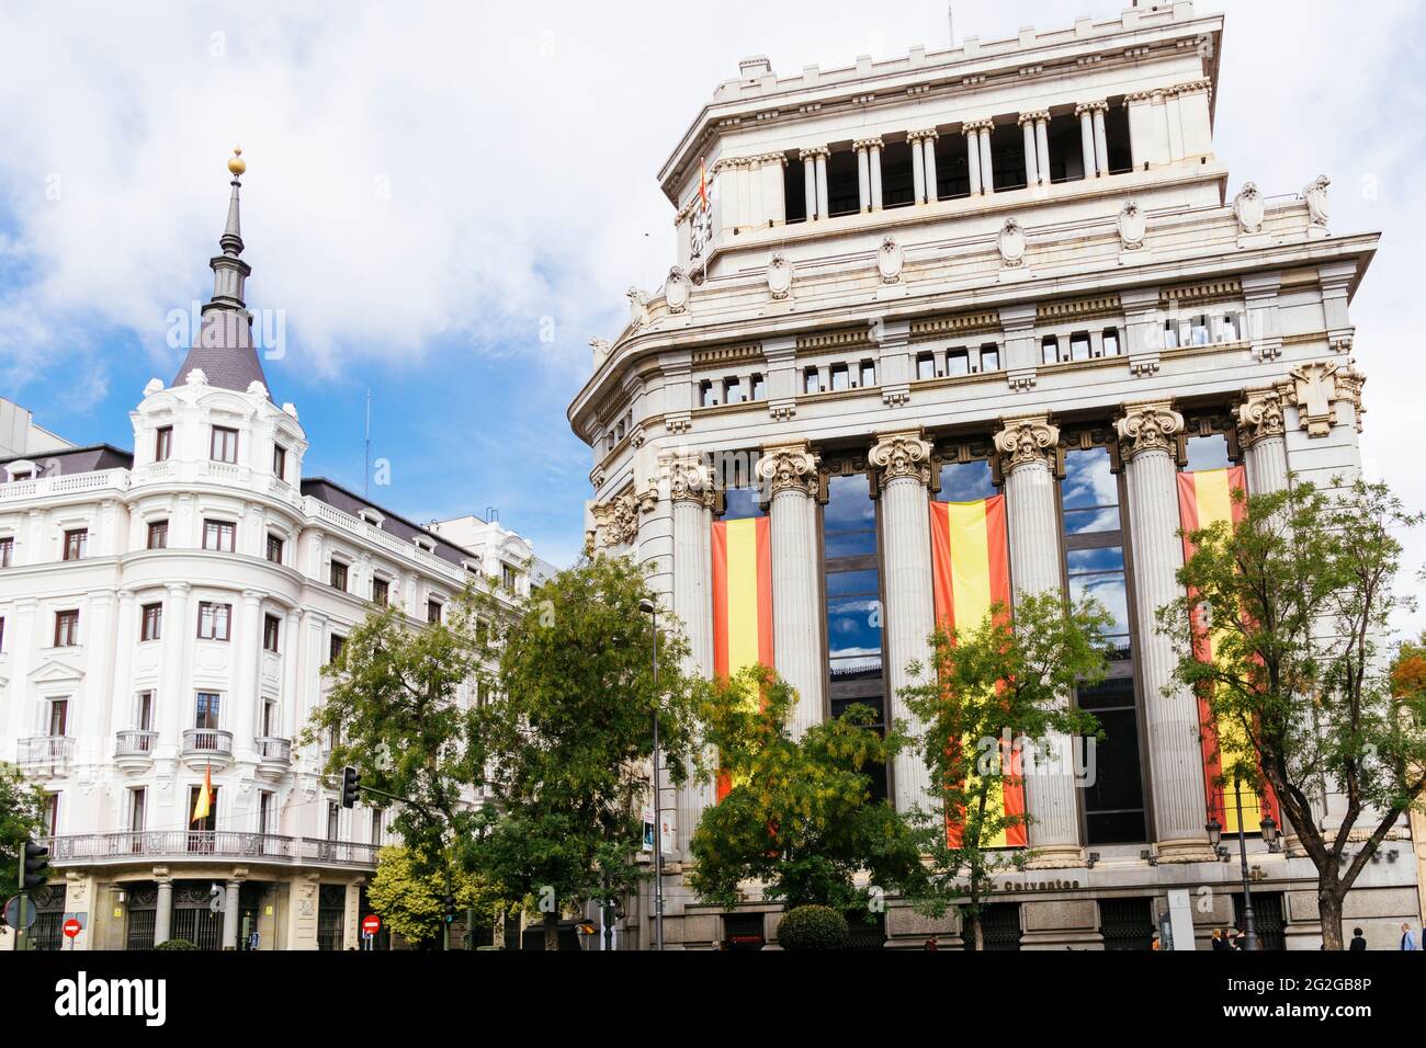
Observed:
[[[1178,644],[1175,682],[1205,699],[1212,724],[1229,726],[1221,766],[1259,794],[1272,787],[1316,867],[1328,950],[1342,948],[1346,893],[1426,788],[1426,690],[1410,683],[1419,649],[1397,660],[1407,686],[1393,689],[1383,647],[1392,616],[1415,606],[1393,580],[1397,536],[1422,518],[1385,485],[1339,483],[1295,481],[1246,498],[1241,522],[1192,532],[1196,552],[1178,573],[1185,596],[1158,615]],[[1212,630],[1211,662],[1194,649],[1195,616]],[[1345,810],[1323,830],[1313,811],[1329,791]],[[1368,837],[1348,856],[1363,820]]]

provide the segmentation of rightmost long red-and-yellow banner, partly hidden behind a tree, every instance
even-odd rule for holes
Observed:
[[[1233,490],[1248,490],[1248,471],[1243,466],[1229,466],[1228,469],[1199,469],[1178,475],[1178,515],[1184,528],[1184,560],[1194,556],[1195,546],[1188,540],[1189,533],[1218,523],[1231,520],[1238,523],[1246,513],[1242,502],[1233,500]],[[1189,597],[1192,599],[1192,593]],[[1214,659],[1214,630],[1204,623],[1204,613],[1194,610],[1194,656],[1205,662]],[[1214,780],[1224,771],[1232,777],[1232,767],[1225,769],[1219,740],[1241,739],[1242,729],[1231,720],[1212,723],[1212,711],[1208,706],[1208,696],[1198,696],[1198,719],[1204,726],[1204,784],[1208,793],[1208,814],[1218,816],[1224,833],[1238,833],[1238,807],[1235,797],[1222,787],[1214,786]],[[1226,796],[1225,796],[1226,793]],[[1243,798],[1243,831],[1258,833],[1262,828],[1262,817],[1271,814],[1279,820],[1276,798],[1269,796],[1262,800],[1256,794],[1245,794]],[[1281,824],[1281,821],[1279,821]]]

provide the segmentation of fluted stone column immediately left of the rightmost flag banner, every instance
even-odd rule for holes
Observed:
[[[1158,609],[1182,593],[1175,573],[1184,563],[1176,535],[1175,436],[1184,416],[1168,401],[1124,405],[1115,422],[1128,475],[1134,596],[1139,623],[1139,694],[1148,717],[1154,827],[1161,863],[1212,861],[1204,797],[1204,753],[1198,700],[1172,683],[1172,639],[1155,629]]]

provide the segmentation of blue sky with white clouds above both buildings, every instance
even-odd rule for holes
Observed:
[[[1426,506],[1420,469],[1426,44],[1416,4],[1196,4],[1228,16],[1216,148],[1231,190],[1332,180],[1338,231],[1382,230],[1352,314],[1368,469]],[[776,10],[776,14],[771,11]],[[241,143],[252,308],[312,443],[308,475],[378,500],[483,513],[568,563],[588,449],[565,419],[588,341],[673,261],[655,174],[737,60],[779,71],[944,46],[945,4],[110,4],[11,9],[0,38],[0,395],[78,442],[130,443],[181,351],[165,315],[211,291]],[[1068,27],[1119,4],[960,0],[960,37]],[[799,14],[803,11],[803,14]],[[1369,14],[1363,16],[1363,11]],[[552,334],[542,341],[542,332]],[[1416,543],[1412,555],[1426,559]]]

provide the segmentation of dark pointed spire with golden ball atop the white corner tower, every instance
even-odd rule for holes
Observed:
[[[252,314],[244,302],[244,284],[252,268],[242,261],[242,224],[240,215],[241,177],[248,170],[242,150],[234,150],[228,160],[232,174],[232,195],[228,198],[228,221],[218,238],[221,255],[208,260],[212,268],[212,298],[202,307],[202,322],[193,348],[184,358],[174,385],[188,381],[198,368],[208,385],[247,391],[252,382],[267,386],[262,362],[252,345]],[[271,391],[268,391],[271,398]]]

